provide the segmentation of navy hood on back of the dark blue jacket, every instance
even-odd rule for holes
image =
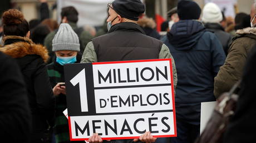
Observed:
[[[194,20],[179,21],[173,25],[167,33],[169,42],[177,50],[189,50],[198,43],[203,35],[205,27],[203,23]]]

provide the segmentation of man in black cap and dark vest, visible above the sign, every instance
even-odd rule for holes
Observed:
[[[160,40],[145,35],[137,25],[140,14],[145,11],[144,4],[140,0],[115,0],[108,7],[109,32],[86,45],[81,63],[171,58],[176,88],[176,68],[169,48]]]

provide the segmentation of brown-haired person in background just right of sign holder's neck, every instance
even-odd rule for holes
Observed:
[[[160,34],[155,30],[156,23],[153,18],[148,18],[146,16],[143,16],[142,18],[139,18],[138,25],[144,30],[146,35],[160,39]]]

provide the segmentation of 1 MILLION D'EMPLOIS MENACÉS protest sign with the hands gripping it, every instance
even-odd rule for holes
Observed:
[[[171,59],[67,64],[65,80],[71,141],[176,136]]]

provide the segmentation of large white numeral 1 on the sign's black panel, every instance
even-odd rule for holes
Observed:
[[[81,72],[73,77],[70,82],[73,86],[76,86],[79,83],[81,111],[88,112],[85,69],[81,70]]]

